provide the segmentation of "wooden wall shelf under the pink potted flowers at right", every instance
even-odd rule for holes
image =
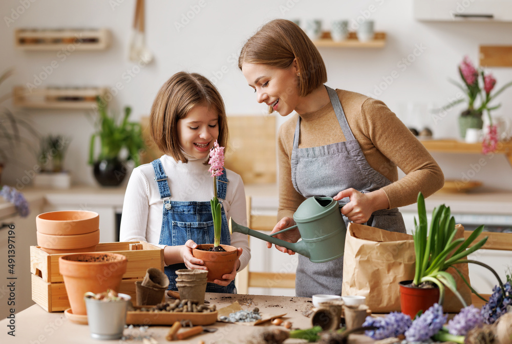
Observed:
[[[457,140],[423,140],[430,152],[482,154],[482,143],[465,143]],[[498,142],[495,154],[504,154],[512,166],[512,141]]]

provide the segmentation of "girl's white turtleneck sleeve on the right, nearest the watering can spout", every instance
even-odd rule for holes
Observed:
[[[234,185],[231,184],[234,182]],[[247,226],[247,210],[245,201],[245,189],[242,178],[238,176],[234,181],[230,181],[229,187],[234,187],[234,195],[232,202],[229,207],[229,213],[226,214],[227,221],[229,218],[233,218],[233,221]],[[241,247],[243,249],[242,255],[240,256],[240,268],[237,271],[241,271],[249,264],[251,259],[251,250],[249,248],[249,241],[247,235],[242,233],[231,234],[231,246]]]

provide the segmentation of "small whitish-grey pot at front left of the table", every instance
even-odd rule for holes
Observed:
[[[102,301],[84,297],[87,307],[87,321],[94,339],[119,339],[126,325],[126,310],[130,295],[118,294],[118,301]]]

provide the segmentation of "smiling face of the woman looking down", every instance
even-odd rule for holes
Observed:
[[[281,116],[287,116],[296,109],[300,97],[295,61],[286,69],[262,63],[243,63],[242,73],[254,89],[259,103],[271,106]]]

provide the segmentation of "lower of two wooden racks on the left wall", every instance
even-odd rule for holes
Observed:
[[[40,88],[28,90],[23,86],[13,89],[14,105],[32,109],[93,109],[96,97],[104,96],[106,88]]]

